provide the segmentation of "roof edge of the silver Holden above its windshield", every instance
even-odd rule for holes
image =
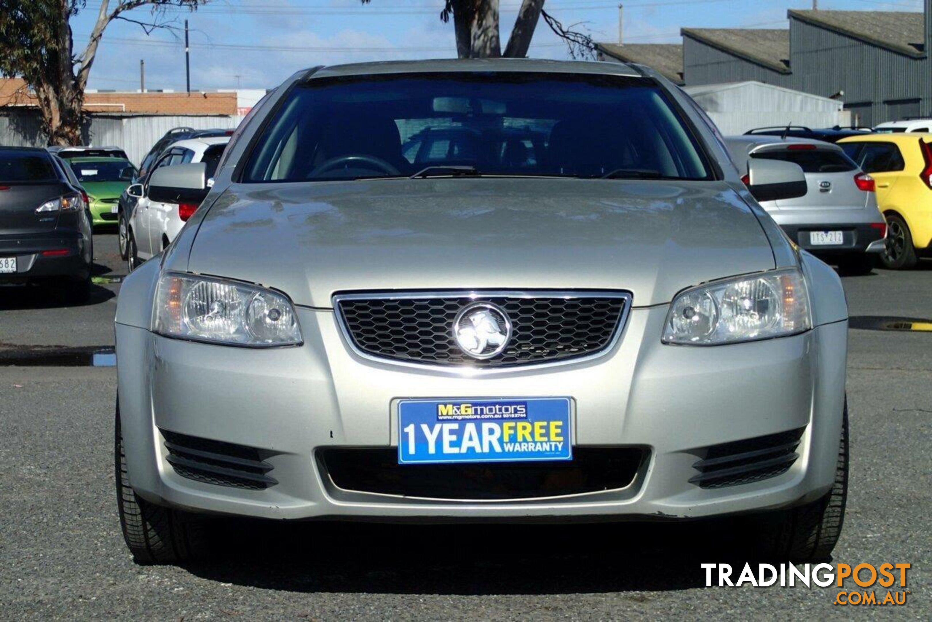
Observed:
[[[490,71],[641,76],[634,67],[624,62],[546,61],[541,59],[438,59],[429,61],[353,62],[323,66],[314,71],[309,79],[376,74]]]

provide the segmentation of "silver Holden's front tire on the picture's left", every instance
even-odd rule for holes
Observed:
[[[140,564],[181,563],[204,559],[207,538],[204,521],[194,515],[139,497],[130,486],[117,404],[114,460],[120,528],[132,559]]]

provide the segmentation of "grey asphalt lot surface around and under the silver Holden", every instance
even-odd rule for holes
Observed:
[[[138,566],[117,520],[115,370],[41,365],[113,345],[125,268],[115,235],[95,243],[87,305],[0,288],[0,618],[932,618],[932,332],[905,330],[932,322],[930,261],[844,279],[852,463],[833,561],[911,563],[905,605],[856,612],[830,587],[705,587],[700,563],[740,560],[753,535],[726,524],[236,520],[211,564]]]

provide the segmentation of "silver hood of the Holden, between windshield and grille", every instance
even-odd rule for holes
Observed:
[[[186,264],[318,308],[340,291],[415,289],[627,290],[647,306],[773,268],[724,183],[488,178],[233,185]]]

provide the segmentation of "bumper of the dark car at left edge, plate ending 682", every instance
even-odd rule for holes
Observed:
[[[44,252],[56,255],[46,256]],[[77,231],[51,230],[41,234],[0,236],[0,257],[17,258],[17,271],[0,274],[0,283],[21,283],[47,277],[86,279],[90,271],[88,255],[84,236]]]

